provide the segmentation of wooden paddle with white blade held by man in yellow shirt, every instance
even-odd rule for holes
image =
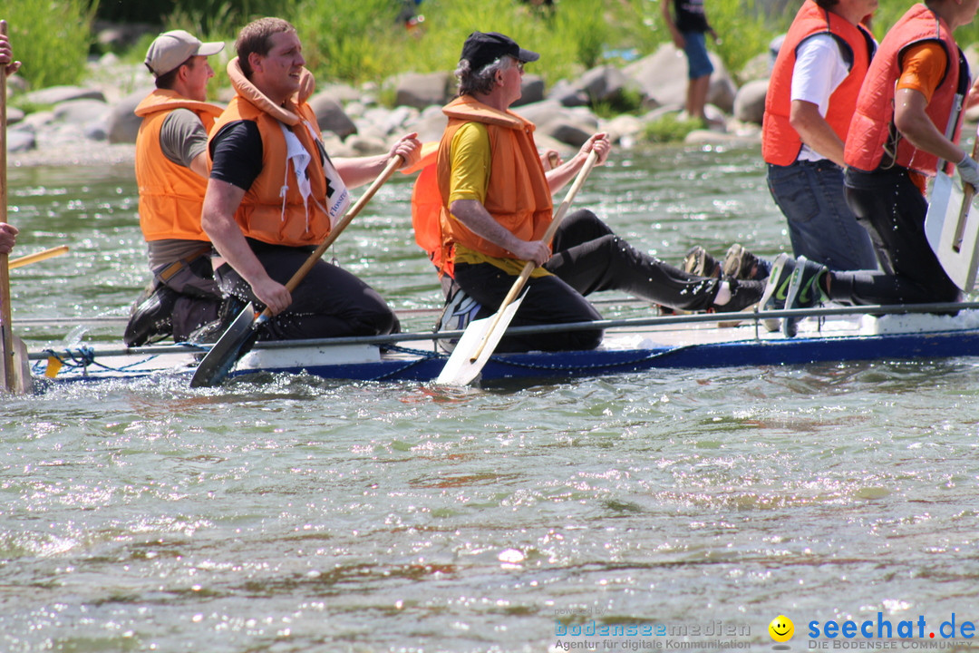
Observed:
[[[558,207],[557,212],[554,214],[554,219],[551,220],[547,231],[544,232],[540,240],[545,243],[550,243],[551,239],[554,238],[554,233],[561,225],[561,221],[567,214],[568,208],[571,206],[575,196],[578,195],[578,191],[581,190],[584,180],[587,179],[588,173],[591,172],[591,168],[597,162],[598,153],[592,150],[585,160],[582,169],[579,171],[578,177],[575,178],[575,182],[568,189],[568,194],[565,196],[564,201],[561,202],[561,206]],[[492,352],[496,350],[496,346],[499,345],[499,341],[506,332],[506,328],[513,321],[513,316],[517,313],[517,309],[524,301],[523,297],[520,300],[515,300],[520,294],[520,291],[524,289],[524,285],[530,279],[531,272],[534,271],[535,267],[534,261],[527,261],[524,269],[520,272],[520,276],[513,283],[510,292],[506,294],[506,297],[500,303],[499,309],[497,309],[495,314],[485,319],[475,320],[469,323],[465,333],[462,334],[462,338],[459,339],[459,343],[452,350],[452,355],[445,362],[445,366],[443,367],[442,373],[439,374],[439,378],[436,379],[436,383],[450,386],[465,386],[479,376],[480,371],[487,364],[489,356],[492,355]]]

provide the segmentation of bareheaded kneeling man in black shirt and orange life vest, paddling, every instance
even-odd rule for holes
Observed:
[[[306,99],[312,75],[291,23],[247,24],[228,64],[235,97],[211,131],[212,162],[202,221],[217,250],[225,295],[268,307],[261,340],[396,333],[394,311],[350,272],[317,260],[290,293],[286,282],[323,243],[350,203],[392,157],[418,159],[415,134],[379,157],[331,160]]]

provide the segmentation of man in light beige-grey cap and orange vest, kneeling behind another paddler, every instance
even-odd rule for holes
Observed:
[[[136,136],[139,224],[153,282],[134,307],[123,340],[128,347],[172,335],[187,340],[215,321],[221,294],[210,269],[210,241],[201,227],[207,190],[208,131],[221,108],[209,104],[214,76],[208,57],[224,43],[202,43],[182,29],[161,34],[146,53],[157,88],[139,106]]]

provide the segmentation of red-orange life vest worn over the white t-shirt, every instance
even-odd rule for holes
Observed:
[[[771,70],[769,92],[765,98],[765,117],[762,121],[762,157],[767,163],[789,165],[796,161],[802,150],[802,139],[789,122],[792,72],[799,46],[817,34],[829,34],[836,40],[850,70],[829,96],[825,116],[826,122],[840,140],[845,142],[847,139],[850,119],[857,107],[857,96],[876,43],[863,25],[850,23],[819,7],[813,0],[806,0],[789,27]]]

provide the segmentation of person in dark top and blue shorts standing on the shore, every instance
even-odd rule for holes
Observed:
[[[704,35],[710,34],[716,42],[718,34],[707,22],[704,0],[661,0],[660,9],[674,44],[686,55],[686,115],[699,118],[706,124],[708,119],[704,107],[707,105],[714,65],[707,56],[707,39]]]

